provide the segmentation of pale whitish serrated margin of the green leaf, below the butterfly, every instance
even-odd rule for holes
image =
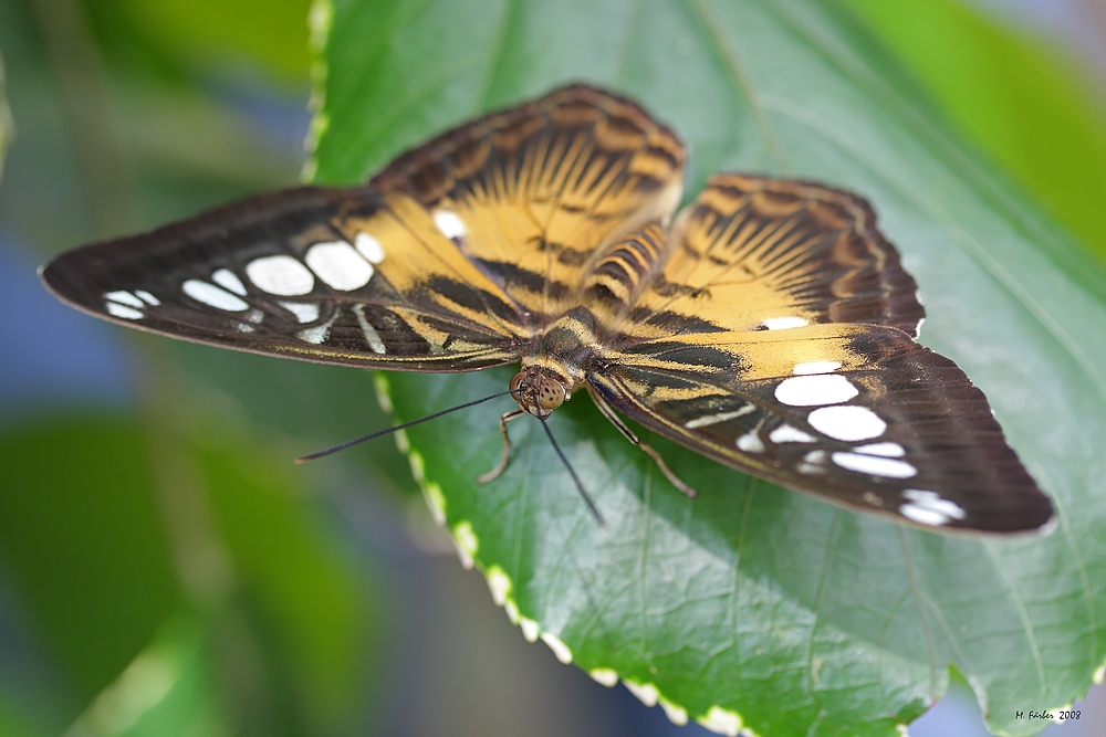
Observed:
[[[320,1],[327,2],[327,0]],[[395,408],[395,403],[392,401],[392,387],[387,377],[379,371],[374,371],[373,388],[376,390],[376,400],[380,409],[390,414]],[[484,566],[480,561],[478,557],[480,538],[472,528],[472,523],[468,519],[461,519],[452,525],[449,524],[447,502],[441,485],[427,478],[426,461],[422,459],[422,454],[411,448],[406,434],[401,435],[401,433],[403,431],[396,432],[396,446],[401,453],[407,455],[411,476],[422,491],[422,498],[426,499],[427,507],[429,507],[434,520],[449,531],[461,566],[466,569],[474,567],[483,575],[484,581],[488,583],[488,589],[491,591],[492,601],[507,612],[507,617],[512,624],[518,625],[522,630],[522,636],[525,638],[526,642],[541,640],[553,651],[559,661],[565,665],[571,664],[573,662],[572,649],[553,632],[543,631],[536,620],[522,614],[519,609],[519,602],[511,596],[514,590],[514,582],[508,576],[507,571],[500,566]],[[577,663],[577,665],[580,664]],[[580,667],[583,668],[582,665]],[[620,678],[618,672],[613,667],[596,666],[584,670],[593,680],[608,687],[614,686]],[[690,715],[687,708],[664,696],[656,684],[638,683],[629,678],[622,678],[622,683],[646,706],[653,707],[659,704],[672,724],[684,726],[688,723]],[[696,716],[695,720],[702,727],[716,734],[727,735],[728,737],[738,737],[739,734],[747,737],[759,737],[755,731],[744,726],[744,720],[740,714],[717,704],[708,708],[705,714]]]

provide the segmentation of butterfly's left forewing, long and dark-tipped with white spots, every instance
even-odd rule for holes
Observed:
[[[62,301],[170,337],[302,360],[467,371],[518,360],[518,310],[398,192],[305,187],[42,270]]]

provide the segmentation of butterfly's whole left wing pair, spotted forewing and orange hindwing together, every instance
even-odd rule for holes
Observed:
[[[637,105],[574,85],[448,131],[363,188],[251,198],[67,253],[42,276],[105,319],[239,350],[509,364],[596,249],[670,217],[684,158]]]

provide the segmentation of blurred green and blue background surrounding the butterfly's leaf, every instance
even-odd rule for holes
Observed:
[[[1106,6],[848,2],[1106,261]],[[706,735],[528,644],[367,376],[126,334],[39,263],[298,181],[307,0],[0,0],[0,735]],[[0,136],[2,138],[2,136]],[[1098,203],[1098,209],[1095,204]],[[312,408],[345,402],[343,427]],[[915,737],[985,735],[954,688]],[[1106,734],[1106,696],[1050,735]]]

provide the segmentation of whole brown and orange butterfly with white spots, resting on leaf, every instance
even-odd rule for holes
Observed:
[[[507,423],[574,391],[783,486],[929,529],[1052,519],[983,393],[916,341],[925,312],[859,197],[713,176],[574,85],[472,120],[366,185],[252,197],[41,271],[62,301],[175,338],[428,372],[520,364]]]

